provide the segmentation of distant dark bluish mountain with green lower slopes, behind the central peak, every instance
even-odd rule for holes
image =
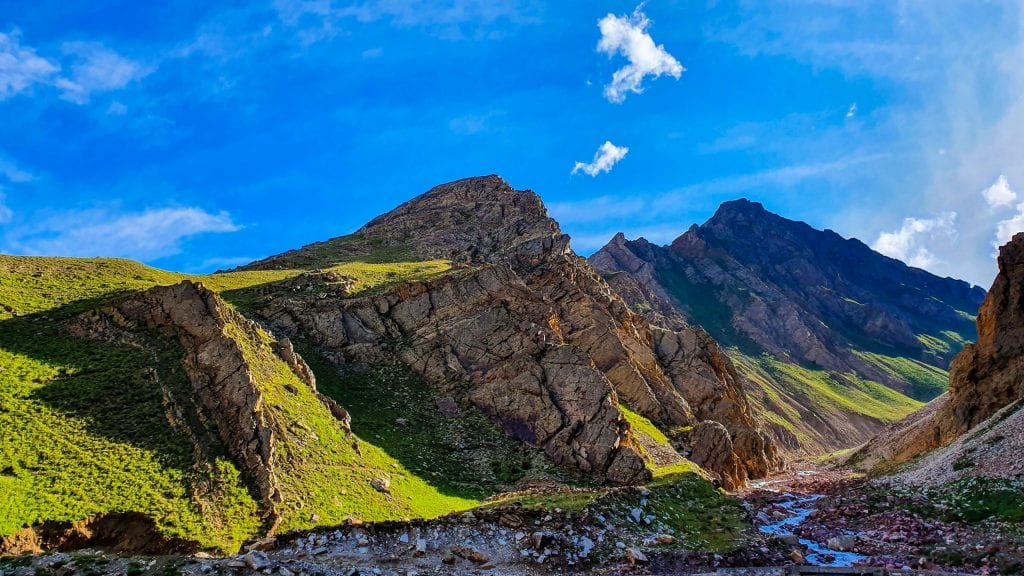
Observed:
[[[590,262],[652,324],[728,347],[793,452],[854,446],[941,394],[984,297],[748,200],[668,246],[617,235]]]

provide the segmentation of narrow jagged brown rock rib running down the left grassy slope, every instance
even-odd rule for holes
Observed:
[[[272,531],[281,501],[274,462],[275,422],[236,337],[232,325],[260,345],[255,325],[202,285],[183,281],[152,288],[79,317],[71,329],[80,336],[128,340],[139,329],[157,331],[177,340],[184,352],[182,367],[201,401],[204,416],[212,419],[232,459],[251,479]],[[291,342],[275,342],[282,360],[315,389],[312,372],[295,354]],[[329,407],[333,401],[319,395]],[[347,417],[343,409],[336,414]],[[347,422],[346,422],[347,423]]]

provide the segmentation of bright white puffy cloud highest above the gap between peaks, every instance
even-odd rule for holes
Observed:
[[[624,101],[626,92],[643,92],[645,76],[658,78],[668,74],[678,79],[685,70],[664,45],[654,44],[654,39],[647,33],[650,19],[640,11],[641,7],[637,7],[632,15],[608,14],[597,23],[601,29],[598,51],[609,57],[621,53],[630,60],[629,65],[615,71],[611,83],[604,87],[604,96],[611,102]]]

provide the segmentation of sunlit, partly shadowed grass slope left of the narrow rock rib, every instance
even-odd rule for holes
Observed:
[[[256,503],[223,448],[197,425],[207,454],[197,462],[168,422],[164,403],[187,407],[193,396],[168,368],[180,351],[142,341],[80,340],[45,317],[0,323],[0,534],[129,510],[207,547],[237,549],[257,531]]]

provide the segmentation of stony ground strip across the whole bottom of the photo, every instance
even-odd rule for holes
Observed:
[[[583,507],[574,503],[579,493],[534,493],[513,503],[437,521],[346,525],[285,535],[227,557],[125,557],[79,550],[6,559],[0,561],[0,574],[699,574],[740,568],[767,574],[810,562],[828,565],[837,556],[842,560],[842,552],[863,556],[854,562],[854,571],[878,567],[893,573],[1017,574],[1024,559],[1020,519],[1000,518],[1006,509],[1001,504],[993,508],[995,513],[986,515],[976,505],[975,515],[965,516],[963,501],[947,501],[991,497],[997,504],[1010,502],[990,488],[982,486],[970,496],[954,495],[843,472],[803,470],[741,494],[743,525],[730,525],[723,510],[709,509],[709,516],[723,519],[700,531],[680,529],[673,522],[673,512],[667,511],[673,508],[662,500],[665,492],[621,489],[613,497]],[[1013,487],[1000,485],[1000,489]],[[820,498],[813,500],[815,509],[793,535],[758,530],[786,518],[792,510],[783,504],[807,495]],[[530,504],[539,500],[563,501],[566,508]],[[959,516],[946,513],[954,507]],[[839,553],[814,558],[808,540]],[[692,551],[717,546],[719,552]]]

